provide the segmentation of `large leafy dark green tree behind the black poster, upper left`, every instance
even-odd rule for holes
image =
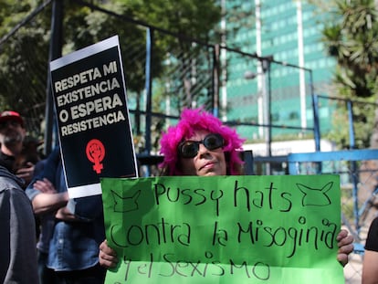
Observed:
[[[219,19],[219,8],[213,1],[63,1],[63,54],[88,46],[106,37],[120,35],[124,69],[128,71],[127,87],[141,93],[144,88],[145,26],[126,19],[140,20],[150,25],[206,38]],[[21,21],[25,21],[41,0],[0,3],[0,37],[7,35]],[[83,5],[84,4],[84,5]],[[110,14],[94,9],[99,5]],[[0,42],[0,99],[2,107],[19,110],[24,116],[40,118],[44,115],[46,97],[48,47],[50,35],[50,5],[38,11],[22,24],[11,37]],[[4,39],[4,38],[3,38]],[[163,72],[163,58],[174,37],[159,38],[155,42],[152,75]],[[163,39],[163,40],[162,40]],[[37,111],[37,112],[36,112]],[[37,124],[39,124],[37,122]]]

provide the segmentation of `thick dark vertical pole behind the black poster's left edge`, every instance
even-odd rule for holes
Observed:
[[[62,29],[63,29],[63,1],[54,0],[52,2],[52,15],[51,15],[51,38],[50,47],[48,51],[48,62],[60,58],[62,55]],[[53,144],[53,134],[56,125],[54,123],[54,106],[51,90],[50,68],[47,68],[47,87],[46,87],[46,109],[45,109],[45,154],[51,153]],[[58,141],[55,142],[58,144]]]

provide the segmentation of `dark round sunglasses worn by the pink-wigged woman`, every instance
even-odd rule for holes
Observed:
[[[220,134],[212,133],[205,136],[203,141],[183,141],[178,146],[178,152],[183,158],[194,158],[198,151],[199,145],[204,144],[207,150],[215,150],[221,148],[225,144],[225,140]]]

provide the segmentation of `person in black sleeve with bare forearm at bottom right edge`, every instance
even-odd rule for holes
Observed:
[[[378,217],[373,219],[366,237],[362,284],[378,284]]]

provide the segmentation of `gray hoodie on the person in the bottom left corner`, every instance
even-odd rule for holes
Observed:
[[[39,283],[36,223],[22,184],[0,166],[0,283]]]

